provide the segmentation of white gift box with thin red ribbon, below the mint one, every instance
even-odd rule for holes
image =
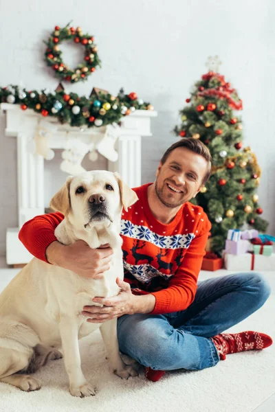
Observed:
[[[274,271],[275,253],[270,256],[254,255],[254,253],[242,255],[223,253],[223,261],[228,271]]]

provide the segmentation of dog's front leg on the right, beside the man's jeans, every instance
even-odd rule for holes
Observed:
[[[117,319],[111,319],[102,323],[100,326],[100,332],[102,339],[106,348],[107,357],[113,368],[115,375],[120,376],[120,378],[128,379],[130,376],[137,376],[137,371],[129,365],[125,365],[120,358],[120,350],[118,347],[118,335],[117,335]]]

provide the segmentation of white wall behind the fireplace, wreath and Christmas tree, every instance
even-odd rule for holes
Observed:
[[[190,87],[206,72],[208,56],[218,54],[221,73],[243,99],[244,141],[262,167],[263,217],[275,234],[274,12],[272,0],[0,0],[0,84],[22,80],[28,89],[55,89],[58,80],[45,67],[42,42],[55,25],[73,19],[73,25],[94,34],[102,69],[67,90],[89,95],[92,87],[100,87],[118,93],[123,86],[158,111],[154,138],[143,141],[145,183],[153,181],[162,152],[175,141],[171,130]],[[62,48],[68,63],[82,56],[77,47]],[[5,137],[4,128],[1,115],[0,255],[5,253],[6,227],[17,225],[16,144]],[[55,181],[64,176],[58,156],[53,163],[47,168],[47,187],[53,175]]]

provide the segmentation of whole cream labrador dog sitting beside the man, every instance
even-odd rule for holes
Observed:
[[[137,195],[118,174],[94,170],[69,176],[52,198],[52,209],[65,218],[55,235],[59,242],[85,240],[89,247],[109,243],[111,267],[102,279],[85,279],[67,269],[36,258],[18,273],[0,295],[0,381],[23,391],[40,389],[30,373],[48,360],[61,358],[69,376],[72,396],[90,396],[95,389],[81,369],[78,339],[100,328],[107,357],[121,378],[137,376],[120,358],[116,319],[89,323],[83,307],[95,305],[96,296],[118,295],[117,277],[123,279],[120,216],[122,207],[133,205]]]

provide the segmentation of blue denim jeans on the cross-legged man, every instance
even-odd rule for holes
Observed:
[[[254,272],[198,282],[195,300],[186,310],[118,318],[120,351],[152,369],[214,366],[219,355],[209,338],[243,321],[269,296],[269,284]]]

